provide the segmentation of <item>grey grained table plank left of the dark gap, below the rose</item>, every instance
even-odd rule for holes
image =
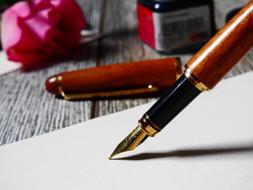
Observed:
[[[92,27],[100,24],[101,1],[79,0]],[[74,50],[69,56],[52,61],[50,67],[0,77],[0,144],[40,135],[91,116],[89,101],[56,99],[44,89],[47,77],[66,70],[95,66],[97,44]]]

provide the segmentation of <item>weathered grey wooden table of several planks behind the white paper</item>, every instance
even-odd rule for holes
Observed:
[[[247,0],[217,0],[218,26],[224,23],[224,10],[243,2]],[[92,28],[111,35],[87,47],[78,48],[70,56],[55,60],[49,67],[31,72],[16,71],[1,76],[0,145],[48,133],[151,100],[70,102],[56,99],[45,91],[45,79],[58,72],[162,57],[143,45],[137,37],[135,0],[79,0],[79,4]],[[189,55],[181,57],[185,63]],[[226,77],[251,70],[253,52],[237,64]]]

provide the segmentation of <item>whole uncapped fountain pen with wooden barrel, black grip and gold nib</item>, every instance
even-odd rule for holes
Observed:
[[[187,62],[182,76],[142,116],[110,159],[154,137],[201,92],[212,89],[252,46],[253,0]]]

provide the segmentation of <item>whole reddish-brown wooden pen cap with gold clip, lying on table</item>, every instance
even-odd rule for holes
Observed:
[[[179,58],[163,58],[68,71],[46,80],[66,100],[160,96],[181,74]]]

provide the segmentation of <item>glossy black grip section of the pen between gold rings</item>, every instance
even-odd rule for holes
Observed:
[[[153,124],[163,129],[200,93],[201,91],[185,75],[182,75],[146,112],[146,115]]]

